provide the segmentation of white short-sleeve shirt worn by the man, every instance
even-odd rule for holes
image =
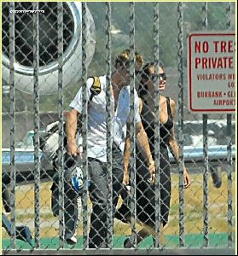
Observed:
[[[99,77],[101,92],[93,96],[88,104],[88,157],[107,162],[107,113],[106,113],[106,76]],[[90,98],[90,87],[94,79],[87,80],[88,96]],[[114,106],[114,98],[112,96]],[[82,88],[78,90],[70,107],[82,113]],[[130,114],[130,85],[123,87],[119,92],[117,109],[113,116],[113,141],[117,143],[122,154],[125,148],[126,123],[129,122]],[[139,98],[135,90],[135,122],[141,122],[139,113]],[[78,143],[80,144],[80,137]]]

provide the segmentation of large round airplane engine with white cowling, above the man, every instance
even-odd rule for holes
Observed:
[[[41,2],[39,10],[39,93],[53,94],[58,90],[57,3]],[[30,2],[15,2],[15,10],[32,10]],[[9,3],[2,4],[2,76],[9,84]],[[95,52],[96,32],[90,10],[86,9],[86,66]],[[33,14],[15,12],[15,88],[33,93]],[[81,77],[82,9],[79,2],[63,3],[63,87]]]

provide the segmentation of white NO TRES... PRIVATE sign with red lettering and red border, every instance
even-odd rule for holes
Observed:
[[[235,112],[235,33],[189,35],[189,110]]]

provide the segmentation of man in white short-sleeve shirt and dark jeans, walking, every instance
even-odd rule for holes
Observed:
[[[122,189],[124,174],[124,148],[126,125],[130,122],[130,52],[125,50],[116,58],[115,71],[112,74],[113,102],[113,212]],[[135,67],[142,67],[142,57],[136,54]],[[98,90],[100,88],[100,90]],[[106,76],[87,80],[89,96],[88,105],[88,161],[90,177],[90,200],[92,213],[90,216],[89,247],[103,247],[107,238],[107,113],[106,113]],[[98,90],[92,96],[93,90]],[[99,93],[98,93],[99,92]],[[155,172],[148,137],[143,129],[139,113],[139,98],[135,90],[135,123],[136,140],[148,160],[148,168]],[[75,133],[78,118],[82,113],[82,89],[71,102],[73,108],[67,119],[68,153],[80,155]],[[79,115],[79,117],[78,117]],[[130,124],[129,124],[130,125]],[[80,131],[79,131],[80,132]],[[84,153],[83,153],[84,154]]]

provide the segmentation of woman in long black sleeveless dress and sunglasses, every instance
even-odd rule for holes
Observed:
[[[151,153],[154,159],[154,82],[156,81],[154,63],[148,63],[142,68],[142,79],[138,88],[138,95],[142,100],[141,118],[147,132]],[[159,90],[165,90],[166,76],[162,67],[159,67]],[[161,220],[161,244],[163,244],[163,227],[168,222],[171,201],[171,170],[168,149],[179,160],[177,140],[174,135],[175,102],[170,97],[160,95],[160,220]],[[127,156],[127,157],[126,157]],[[129,183],[129,158],[130,142],[125,147],[125,173],[124,183]],[[184,188],[189,188],[190,178],[184,166]],[[140,150],[136,147],[136,215],[142,224],[142,230],[137,233],[136,241],[139,243],[149,235],[155,236],[155,186],[151,180],[148,166]],[[124,221],[130,221],[130,210],[125,204],[119,208],[117,216],[123,216]],[[125,240],[125,247],[132,247],[130,237]]]

